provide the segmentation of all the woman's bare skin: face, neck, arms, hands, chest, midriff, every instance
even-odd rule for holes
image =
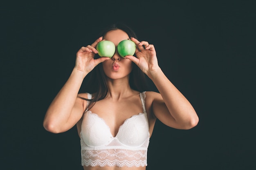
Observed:
[[[129,39],[127,33],[122,30],[109,31],[104,40],[114,42],[115,46],[122,40]],[[76,53],[74,69],[59,93],[50,104],[43,126],[53,133],[61,133],[77,125],[78,133],[81,132],[81,118],[85,112],[87,102],[77,97],[79,89],[92,69],[102,62],[103,70],[107,75],[109,94],[90,109],[105,120],[112,135],[117,135],[119,127],[132,115],[143,113],[139,92],[129,86],[129,74],[134,62],[155,84],[159,93],[147,91],[145,107],[148,116],[150,137],[155,126],[156,119],[163,124],[177,129],[191,129],[198,124],[196,114],[190,102],[164,75],[157,62],[157,55],[153,44],[146,41],[139,42],[130,38],[137,45],[135,54],[121,57],[116,51],[112,58],[100,57],[94,59],[98,53],[97,44],[103,40],[98,38],[94,43],[82,47]],[[113,65],[118,63],[119,69],[114,70]],[[86,93],[79,94],[87,98]],[[84,170],[146,170],[146,167],[83,167]]]

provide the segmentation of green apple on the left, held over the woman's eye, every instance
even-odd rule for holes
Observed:
[[[115,54],[116,47],[111,41],[101,41],[96,46],[99,56],[101,57],[112,57]]]

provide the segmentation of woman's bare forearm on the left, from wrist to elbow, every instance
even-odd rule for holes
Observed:
[[[68,121],[84,77],[81,71],[75,69],[72,71],[69,79],[50,104],[44,126],[61,126]]]

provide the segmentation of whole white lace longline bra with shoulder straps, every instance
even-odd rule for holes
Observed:
[[[116,137],[97,114],[87,110],[81,126],[82,166],[147,166],[149,144],[145,92],[140,93],[144,113],[133,115],[119,127]],[[91,94],[88,94],[91,99]]]

